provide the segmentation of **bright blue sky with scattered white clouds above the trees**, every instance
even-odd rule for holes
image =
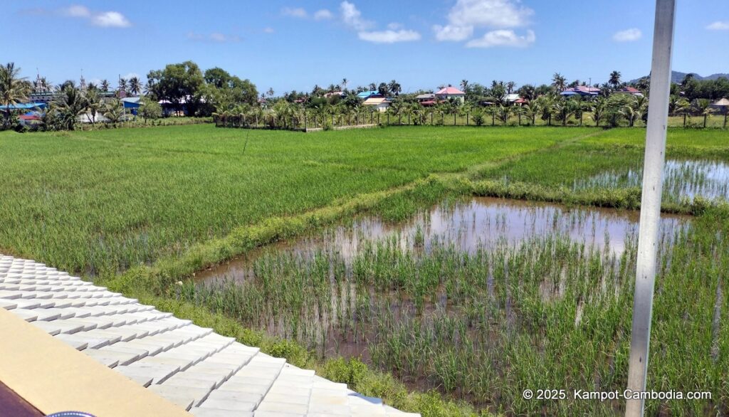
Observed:
[[[653,0],[8,1],[0,61],[29,79],[109,79],[192,60],[260,91],[397,79],[458,85],[634,79],[650,71]],[[174,4],[174,7],[172,6]],[[212,6],[214,4],[214,6]],[[729,72],[727,0],[678,1],[674,70]]]

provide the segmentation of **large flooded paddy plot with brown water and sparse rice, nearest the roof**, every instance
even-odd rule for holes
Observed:
[[[401,224],[356,219],[278,243],[198,273],[180,295],[322,356],[362,357],[410,386],[478,408],[609,414],[617,405],[545,405],[523,400],[521,391],[624,385],[636,223],[630,211],[474,198],[435,206]],[[655,333],[675,340],[701,332],[685,347],[717,366],[727,362],[716,353],[728,343],[726,278],[687,270],[685,257],[693,255],[686,251],[696,250],[686,243],[692,223],[675,216],[661,221],[656,314],[690,303],[697,322],[677,327],[687,312],[673,311],[677,315]],[[671,280],[689,276],[682,297],[690,296],[676,302]],[[682,364],[682,378],[694,375],[688,370],[695,365]]]

